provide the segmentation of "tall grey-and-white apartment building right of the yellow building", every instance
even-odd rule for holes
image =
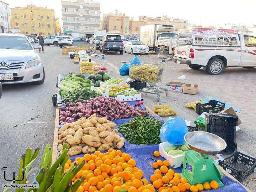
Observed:
[[[90,37],[100,29],[100,4],[86,0],[61,1],[63,31]]]

